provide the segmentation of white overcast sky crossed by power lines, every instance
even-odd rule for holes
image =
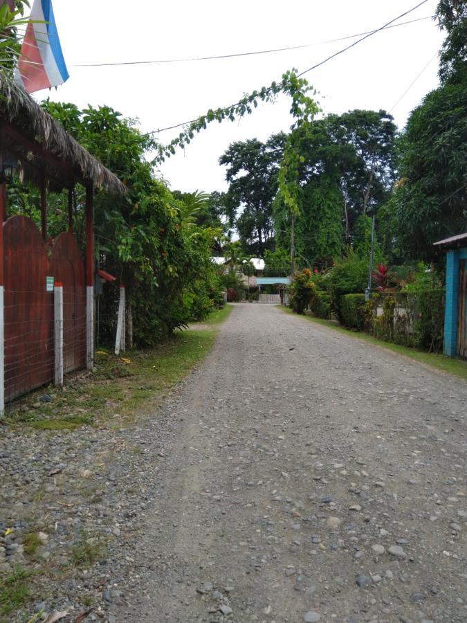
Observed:
[[[415,6],[416,0],[53,0],[57,28],[70,78],[56,101],[79,107],[109,105],[136,117],[144,132],[191,120],[209,108],[226,106],[253,89],[280,80],[284,71],[303,71],[347,42],[321,45],[327,39],[382,26]],[[428,0],[401,21],[432,15],[437,0]],[[437,51],[442,35],[426,19],[377,33],[367,41],[311,71],[306,78],[320,91],[325,113],[360,109],[390,110],[432,59],[413,87],[394,108],[403,127],[421,98],[437,87]],[[234,59],[80,68],[75,64],[160,60],[248,52],[313,44],[282,53]],[[434,58],[433,58],[434,57]],[[35,93],[40,100],[47,91]],[[257,137],[291,125],[286,98],[262,105],[239,123],[214,123],[196,136],[185,153],[161,167],[172,189],[226,190],[225,170],[218,164],[233,141]],[[157,136],[157,135],[156,135]],[[159,135],[164,143],[174,134]]]

